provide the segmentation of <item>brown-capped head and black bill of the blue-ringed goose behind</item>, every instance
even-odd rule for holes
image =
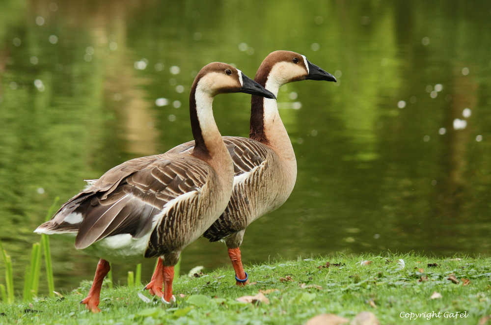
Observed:
[[[291,51],[274,51],[269,54],[259,67],[254,80],[264,86],[266,82],[282,86],[288,82],[301,80],[336,82],[333,75],[312,64],[304,55]]]

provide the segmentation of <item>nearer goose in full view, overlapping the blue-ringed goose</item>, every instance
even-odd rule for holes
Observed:
[[[100,311],[109,262],[136,264],[154,257],[163,260],[163,301],[175,301],[172,279],[181,251],[218,218],[232,192],[233,162],[212,102],[218,94],[234,92],[275,98],[228,64],[206,65],[191,87],[196,143],[191,152],[136,158],[113,167],[34,231],[74,241],[75,248],[100,258],[92,287],[81,301],[87,309]]]

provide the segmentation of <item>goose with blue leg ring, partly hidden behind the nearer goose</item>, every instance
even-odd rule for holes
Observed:
[[[255,81],[275,96],[288,82],[301,80],[334,81],[336,78],[310,63],[304,55],[290,51],[269,54],[259,67]],[[235,271],[237,285],[248,283],[240,245],[246,227],[257,218],[279,208],[290,196],[297,179],[297,160],[290,137],[281,121],[275,100],[252,95],[249,137],[224,136],[234,162],[234,185],[230,202],[203,236],[210,242],[224,241]],[[194,141],[183,143],[167,153],[188,153]],[[162,261],[157,262],[150,293],[161,296],[155,283],[161,280]],[[160,286],[162,287],[162,285]]]

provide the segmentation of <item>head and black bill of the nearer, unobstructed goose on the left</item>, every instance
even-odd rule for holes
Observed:
[[[212,97],[218,94],[243,92],[276,99],[271,91],[266,90],[264,86],[248,78],[242,71],[226,63],[213,62],[204,66],[194,82],[200,91],[208,93]]]

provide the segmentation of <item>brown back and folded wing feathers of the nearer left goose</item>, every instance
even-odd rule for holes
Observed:
[[[128,161],[66,202],[36,232],[77,232],[78,249],[121,233],[141,238],[152,230],[154,217],[161,215],[169,201],[190,191],[199,192],[210,170],[208,164],[189,155],[163,154]],[[72,213],[80,213],[82,222],[65,222]]]

